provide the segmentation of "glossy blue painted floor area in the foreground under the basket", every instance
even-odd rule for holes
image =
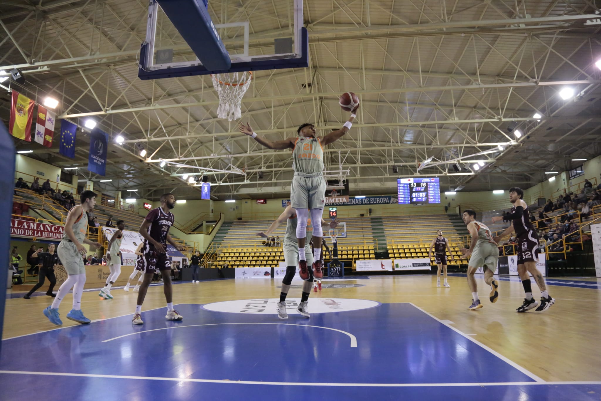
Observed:
[[[275,314],[213,312],[197,304],[176,308],[182,322],[165,320],[161,308],[142,312],[141,326],[123,316],[2,341],[0,399],[40,397],[42,388],[77,389],[69,399],[81,400],[100,394],[103,400],[588,400],[601,394],[597,384],[533,385],[517,367],[411,304],[311,319],[290,315],[287,321]],[[304,385],[311,383],[336,385]],[[56,391],[44,391],[43,397],[65,399]]]

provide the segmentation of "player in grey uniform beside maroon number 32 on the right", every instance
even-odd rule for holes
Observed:
[[[478,268],[484,269],[484,281],[490,286],[490,302],[496,302],[499,298],[499,283],[495,280],[497,261],[499,259],[499,248],[496,242],[492,239],[492,232],[486,225],[476,220],[476,212],[468,209],[463,212],[463,222],[468,227],[469,234],[472,236],[472,242],[469,249],[462,248],[463,256],[461,259],[467,259],[468,263],[468,286],[472,292],[472,304],[470,310],[480,309],[482,304],[478,298],[478,285],[474,274]]]

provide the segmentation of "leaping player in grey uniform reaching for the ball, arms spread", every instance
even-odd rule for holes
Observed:
[[[357,106],[358,107],[358,106]],[[269,149],[292,149],[292,168],[294,177],[290,186],[290,200],[292,207],[296,209],[298,224],[296,226],[296,239],[299,244],[299,276],[303,280],[309,280],[312,275],[308,272],[307,257],[305,256],[305,245],[307,245],[307,221],[311,214],[313,221],[321,221],[323,207],[325,206],[326,182],[323,179],[323,147],[340,139],[349,132],[355,120],[356,108],[351,112],[349,121],[344,123],[341,129],[334,130],[322,138],[315,136],[316,131],[313,124],[302,124],[296,130],[298,136],[284,139],[283,141],[269,141],[257,136],[248,124],[240,123],[240,132],[252,136],[255,141]],[[323,278],[320,256],[322,255],[323,230],[320,225],[313,228],[314,253],[313,275]]]

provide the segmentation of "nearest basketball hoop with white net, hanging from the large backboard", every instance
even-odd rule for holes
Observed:
[[[252,72],[211,74],[213,87],[219,95],[217,117],[228,121],[242,117],[240,102],[251,85]]]

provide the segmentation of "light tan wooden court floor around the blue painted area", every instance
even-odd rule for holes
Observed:
[[[599,381],[601,378],[601,290],[549,286],[549,294],[557,300],[554,306],[545,313],[529,311],[518,314],[515,310],[523,300],[519,281],[501,281],[499,300],[496,304],[490,304],[487,300],[489,290],[482,278],[478,277],[479,294],[484,307],[477,311],[468,310],[471,293],[466,278],[449,277],[448,282],[450,288],[437,288],[435,275],[378,276],[369,280],[337,281],[363,286],[311,292],[309,305],[311,308],[312,298],[411,302],[438,319],[450,320],[454,328],[472,335],[475,340],[545,381]],[[301,283],[293,281],[293,284]],[[332,281],[326,280],[326,283]],[[278,298],[279,285],[281,280],[269,279],[182,283],[174,286],[174,304]],[[535,287],[534,281],[532,287]],[[538,289],[533,289],[535,298],[540,297]],[[114,299],[103,301],[97,292],[85,292],[82,298],[85,315],[94,321],[132,314],[137,294],[121,289],[114,289],[112,293]],[[293,288],[289,296],[298,298],[300,294],[300,289]],[[42,314],[43,308],[50,302],[48,296],[29,300],[7,299],[2,338],[55,329],[56,326]],[[64,319],[71,302],[72,296],[67,295],[60,308],[64,326],[77,324]],[[151,287],[142,312],[164,306],[162,286]],[[23,341],[26,341],[26,337]]]

